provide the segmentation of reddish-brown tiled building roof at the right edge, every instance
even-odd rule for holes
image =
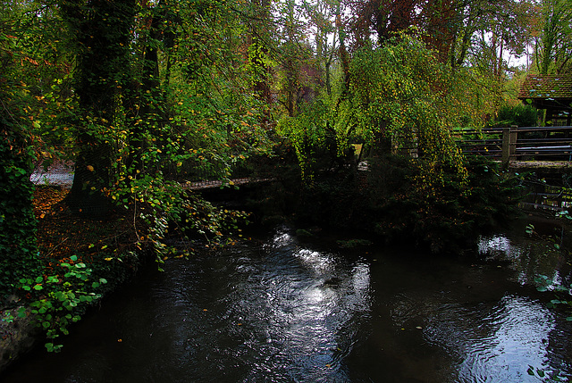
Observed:
[[[535,103],[569,104],[572,102],[572,76],[529,74],[520,87],[518,98],[532,99]]]

